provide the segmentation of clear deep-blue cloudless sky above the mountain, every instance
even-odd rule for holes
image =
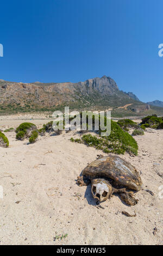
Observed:
[[[8,0],[0,8],[0,79],[107,75],[142,101],[163,101],[162,0]]]

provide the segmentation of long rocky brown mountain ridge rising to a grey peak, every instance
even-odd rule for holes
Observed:
[[[148,111],[149,105],[135,100],[107,76],[78,83],[16,83],[0,80],[0,114],[62,110],[124,109],[128,114]]]

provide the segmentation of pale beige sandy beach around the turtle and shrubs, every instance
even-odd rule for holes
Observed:
[[[31,121],[41,127],[48,118]],[[24,121],[0,119],[3,131]],[[141,174],[139,203],[127,206],[114,196],[101,204],[104,209],[97,208],[91,186],[79,187],[76,179],[87,163],[106,154],[72,143],[74,133],[46,133],[34,144],[5,133],[10,147],[0,148],[0,245],[162,245],[163,130],[134,137],[138,156],[120,155]],[[136,217],[122,211],[135,211]]]

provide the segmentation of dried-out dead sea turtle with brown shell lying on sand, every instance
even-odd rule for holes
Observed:
[[[87,186],[91,182],[93,198],[102,202],[119,193],[122,200],[129,205],[135,205],[138,199],[133,196],[133,191],[141,190],[142,181],[139,173],[127,161],[118,156],[104,156],[83,169],[82,176],[78,176],[77,184]]]

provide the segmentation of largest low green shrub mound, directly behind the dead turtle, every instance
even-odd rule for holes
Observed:
[[[135,139],[128,132],[124,132],[116,122],[111,120],[109,136],[101,136],[101,132],[96,136],[83,135],[79,143],[83,142],[89,147],[103,150],[104,153],[124,154],[127,151],[137,155],[138,146]],[[71,138],[71,141],[75,142],[76,140]]]

